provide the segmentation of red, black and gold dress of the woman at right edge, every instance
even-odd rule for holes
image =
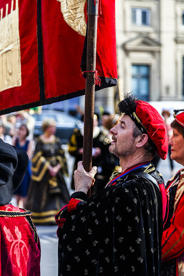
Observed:
[[[184,275],[184,169],[166,186],[169,214],[162,235],[161,276]]]

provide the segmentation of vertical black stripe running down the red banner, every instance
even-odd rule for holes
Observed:
[[[40,85],[40,102],[45,105],[45,87],[43,75],[43,42],[41,30],[41,0],[37,0],[37,41],[38,41],[38,77]]]

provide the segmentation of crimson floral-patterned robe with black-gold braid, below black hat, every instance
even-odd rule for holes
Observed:
[[[40,240],[30,211],[0,206],[0,275],[39,276]]]

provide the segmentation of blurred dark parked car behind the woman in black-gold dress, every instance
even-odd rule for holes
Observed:
[[[74,128],[83,127],[82,121],[62,111],[43,110],[41,114],[33,114],[32,116],[35,118],[34,137],[43,133],[41,125],[44,119],[54,118],[57,122],[56,136],[61,139],[62,144],[67,144]]]

